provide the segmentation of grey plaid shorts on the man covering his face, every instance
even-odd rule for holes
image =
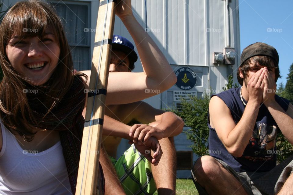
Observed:
[[[278,193],[285,181],[293,173],[293,155],[268,172],[236,172],[226,162],[217,158],[214,159],[238,179],[244,190],[251,195],[274,195]],[[207,194],[198,183],[197,187],[199,187],[200,194]]]

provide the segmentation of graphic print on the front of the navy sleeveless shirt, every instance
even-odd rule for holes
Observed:
[[[276,138],[277,126],[256,122],[253,135],[244,150],[243,157],[251,161],[273,160]]]

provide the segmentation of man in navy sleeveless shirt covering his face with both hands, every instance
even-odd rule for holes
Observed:
[[[195,183],[208,194],[292,192],[292,156],[276,166],[277,134],[281,131],[293,144],[293,107],[275,94],[278,63],[275,48],[251,44],[243,50],[237,72],[242,87],[212,95],[209,150],[218,152],[202,156],[192,169]]]

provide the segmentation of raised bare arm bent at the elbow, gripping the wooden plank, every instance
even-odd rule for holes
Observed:
[[[177,81],[175,73],[162,51],[133,16],[131,1],[120,1],[116,13],[136,44],[143,72],[109,73],[106,103],[127,104],[136,102],[157,94],[145,93],[146,89],[163,92],[172,87]],[[90,70],[81,72],[85,73],[90,80]],[[89,81],[86,84],[87,88],[88,86]]]

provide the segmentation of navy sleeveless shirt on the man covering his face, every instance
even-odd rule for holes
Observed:
[[[221,98],[230,109],[235,124],[237,124],[244,112],[244,104],[240,98],[240,87],[232,88],[219,94],[212,95]],[[287,111],[289,101],[275,95],[277,103]],[[245,103],[247,103],[244,100]],[[266,172],[276,166],[276,137],[279,132],[277,123],[264,104],[259,108],[259,114],[251,135],[247,140],[247,147],[239,158],[232,156],[219,139],[215,129],[209,127],[209,153],[230,165],[236,172]]]

